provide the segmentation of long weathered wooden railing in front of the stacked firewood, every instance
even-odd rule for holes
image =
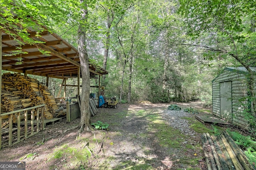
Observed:
[[[20,141],[23,141],[24,139],[35,135],[36,133],[38,133],[40,131],[40,126],[41,126],[41,130],[44,129],[44,107],[45,105],[39,105],[39,106],[34,106],[34,107],[29,107],[26,109],[20,109],[20,110],[16,110],[16,111],[11,111],[8,113],[2,113],[1,116],[4,115],[9,115],[9,122],[8,125],[9,127],[6,129],[2,129],[2,126],[0,126],[0,149],[2,149],[2,147],[5,147],[7,145],[13,145],[15,143],[18,143]],[[28,120],[28,113],[31,113],[30,116],[30,120]],[[24,121],[21,123],[21,113],[24,113]],[[34,120],[34,115],[36,113],[36,120]],[[17,115],[17,128],[12,128],[13,123],[12,123],[12,118],[14,116],[14,114]],[[0,116],[0,122],[2,122],[2,118]],[[21,128],[21,124],[24,124],[24,133],[22,133],[22,128]],[[28,124],[31,124],[31,129],[28,133]],[[34,131],[34,124],[36,124],[36,131]],[[14,132],[16,132],[16,135],[14,134]],[[8,143],[3,144],[2,142],[4,142],[3,137],[4,134],[8,133]]]

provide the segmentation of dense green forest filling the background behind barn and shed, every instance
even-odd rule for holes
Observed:
[[[210,106],[211,81],[224,67],[256,66],[255,0],[85,2],[89,14],[85,29],[88,56],[90,62],[109,73],[101,82],[107,98],[117,96],[122,103],[200,100]],[[15,3],[20,14],[33,16],[78,47],[79,20],[74,19],[80,12],[78,2]],[[1,8],[10,7],[7,1],[1,0],[1,4]],[[43,77],[38,79],[46,82]],[[54,97],[61,83],[50,79]],[[76,83],[76,79],[67,81]],[[98,85],[98,80],[92,79],[90,84]],[[91,92],[97,90],[92,88]],[[66,92],[70,97],[77,94],[72,87]]]

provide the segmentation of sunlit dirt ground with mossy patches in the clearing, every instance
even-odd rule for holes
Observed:
[[[170,149],[162,146],[159,136],[152,131],[153,125],[146,118],[161,115],[169,105],[144,102],[118,104],[116,109],[98,108],[98,114],[91,117],[91,121],[108,123],[108,131],[84,132],[80,138],[77,138],[78,129],[66,131],[78,125],[80,119],[68,123],[64,118],[0,150],[0,161],[25,161],[27,170],[205,170],[203,151],[199,147],[201,134],[196,133],[193,139],[185,137],[192,147]],[[197,102],[178,105],[203,109]],[[194,163],[190,164],[192,160]]]

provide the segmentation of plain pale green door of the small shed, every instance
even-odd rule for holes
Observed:
[[[220,82],[220,117],[232,123],[232,82]]]

